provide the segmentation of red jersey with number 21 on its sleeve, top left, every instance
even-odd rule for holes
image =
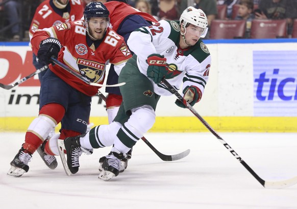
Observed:
[[[83,16],[84,7],[80,0],[70,0],[65,9],[55,7],[53,0],[42,2],[36,9],[31,22],[29,36],[37,29],[50,28],[67,21],[75,21]]]

